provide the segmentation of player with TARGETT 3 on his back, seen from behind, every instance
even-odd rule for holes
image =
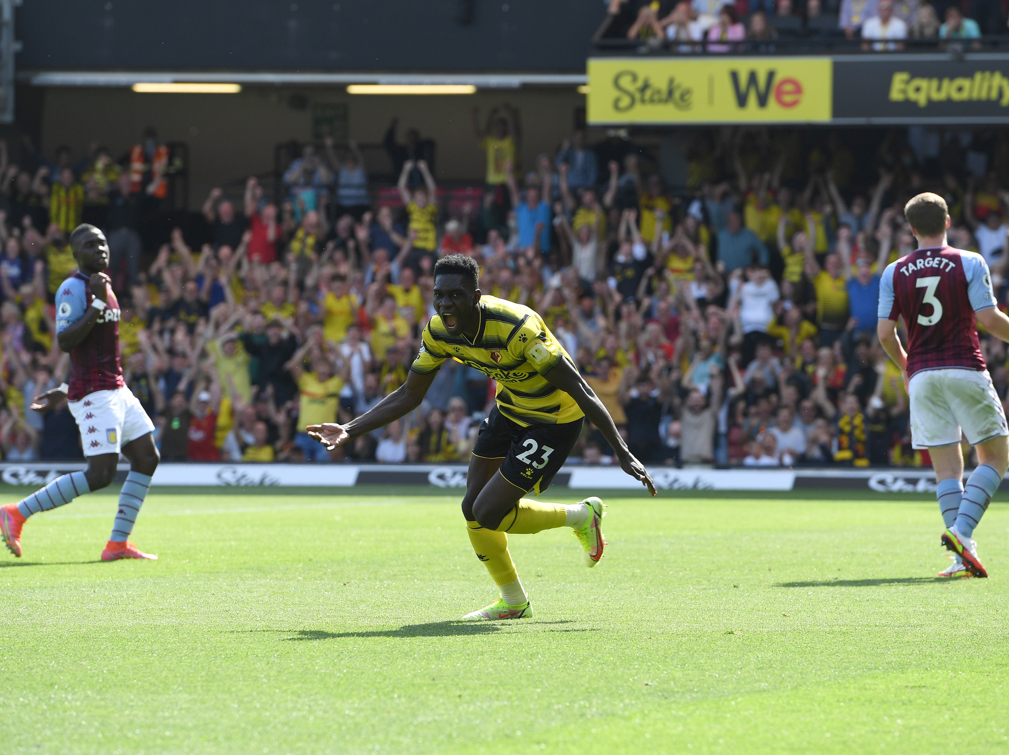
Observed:
[[[978,323],[1009,342],[1009,318],[999,311],[988,265],[980,254],[946,244],[945,201],[919,194],[904,207],[918,249],[883,272],[879,338],[903,370],[911,399],[911,443],[928,449],[945,531],[954,553],[942,577],[988,577],[974,529],[1009,467],[1009,428],[985,366]],[[897,321],[907,327],[907,351]],[[965,486],[961,436],[977,448],[978,468]]]

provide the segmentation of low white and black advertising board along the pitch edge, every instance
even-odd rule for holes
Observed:
[[[0,487],[19,486],[18,492],[36,489],[60,475],[85,469],[78,463],[0,464]],[[129,467],[119,466],[116,482],[126,479]],[[970,475],[968,470],[967,475]],[[935,476],[928,470],[712,470],[654,467],[649,473],[663,495],[691,491],[787,491],[802,489],[871,490],[877,493],[933,493]],[[965,476],[965,477],[966,477]],[[347,494],[347,488],[362,493],[373,485],[411,486],[432,494],[438,489],[454,489],[461,495],[466,487],[462,465],[351,465],[351,464],[162,464],[154,473],[153,487],[186,492],[206,488],[230,488],[248,493],[278,488],[333,489]],[[616,467],[563,467],[554,477],[551,490],[575,491],[643,490],[641,483]],[[266,490],[263,490],[266,489]],[[375,490],[371,488],[371,490]],[[1002,483],[1009,490],[1009,480]],[[14,491],[10,491],[13,494]],[[581,493],[584,495],[584,493]],[[547,496],[549,498],[549,495]]]

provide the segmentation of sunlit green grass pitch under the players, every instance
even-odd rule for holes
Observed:
[[[463,624],[458,491],[155,490],[114,563],[90,495],[0,554],[0,751],[1009,752],[1009,507],[941,581],[934,500],[852,497],[608,497],[597,569],[514,536],[536,617]]]

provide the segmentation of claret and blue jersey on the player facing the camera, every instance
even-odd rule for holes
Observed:
[[[57,333],[83,318],[95,296],[87,275],[76,272],[57,291]],[[68,398],[78,401],[89,393],[115,390],[126,385],[119,363],[119,301],[109,288],[105,309],[91,333],[71,349]]]

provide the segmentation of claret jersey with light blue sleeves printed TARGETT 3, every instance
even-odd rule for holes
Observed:
[[[880,279],[880,320],[903,316],[908,377],[922,370],[986,369],[975,312],[997,305],[984,257],[949,246],[917,249]]]

